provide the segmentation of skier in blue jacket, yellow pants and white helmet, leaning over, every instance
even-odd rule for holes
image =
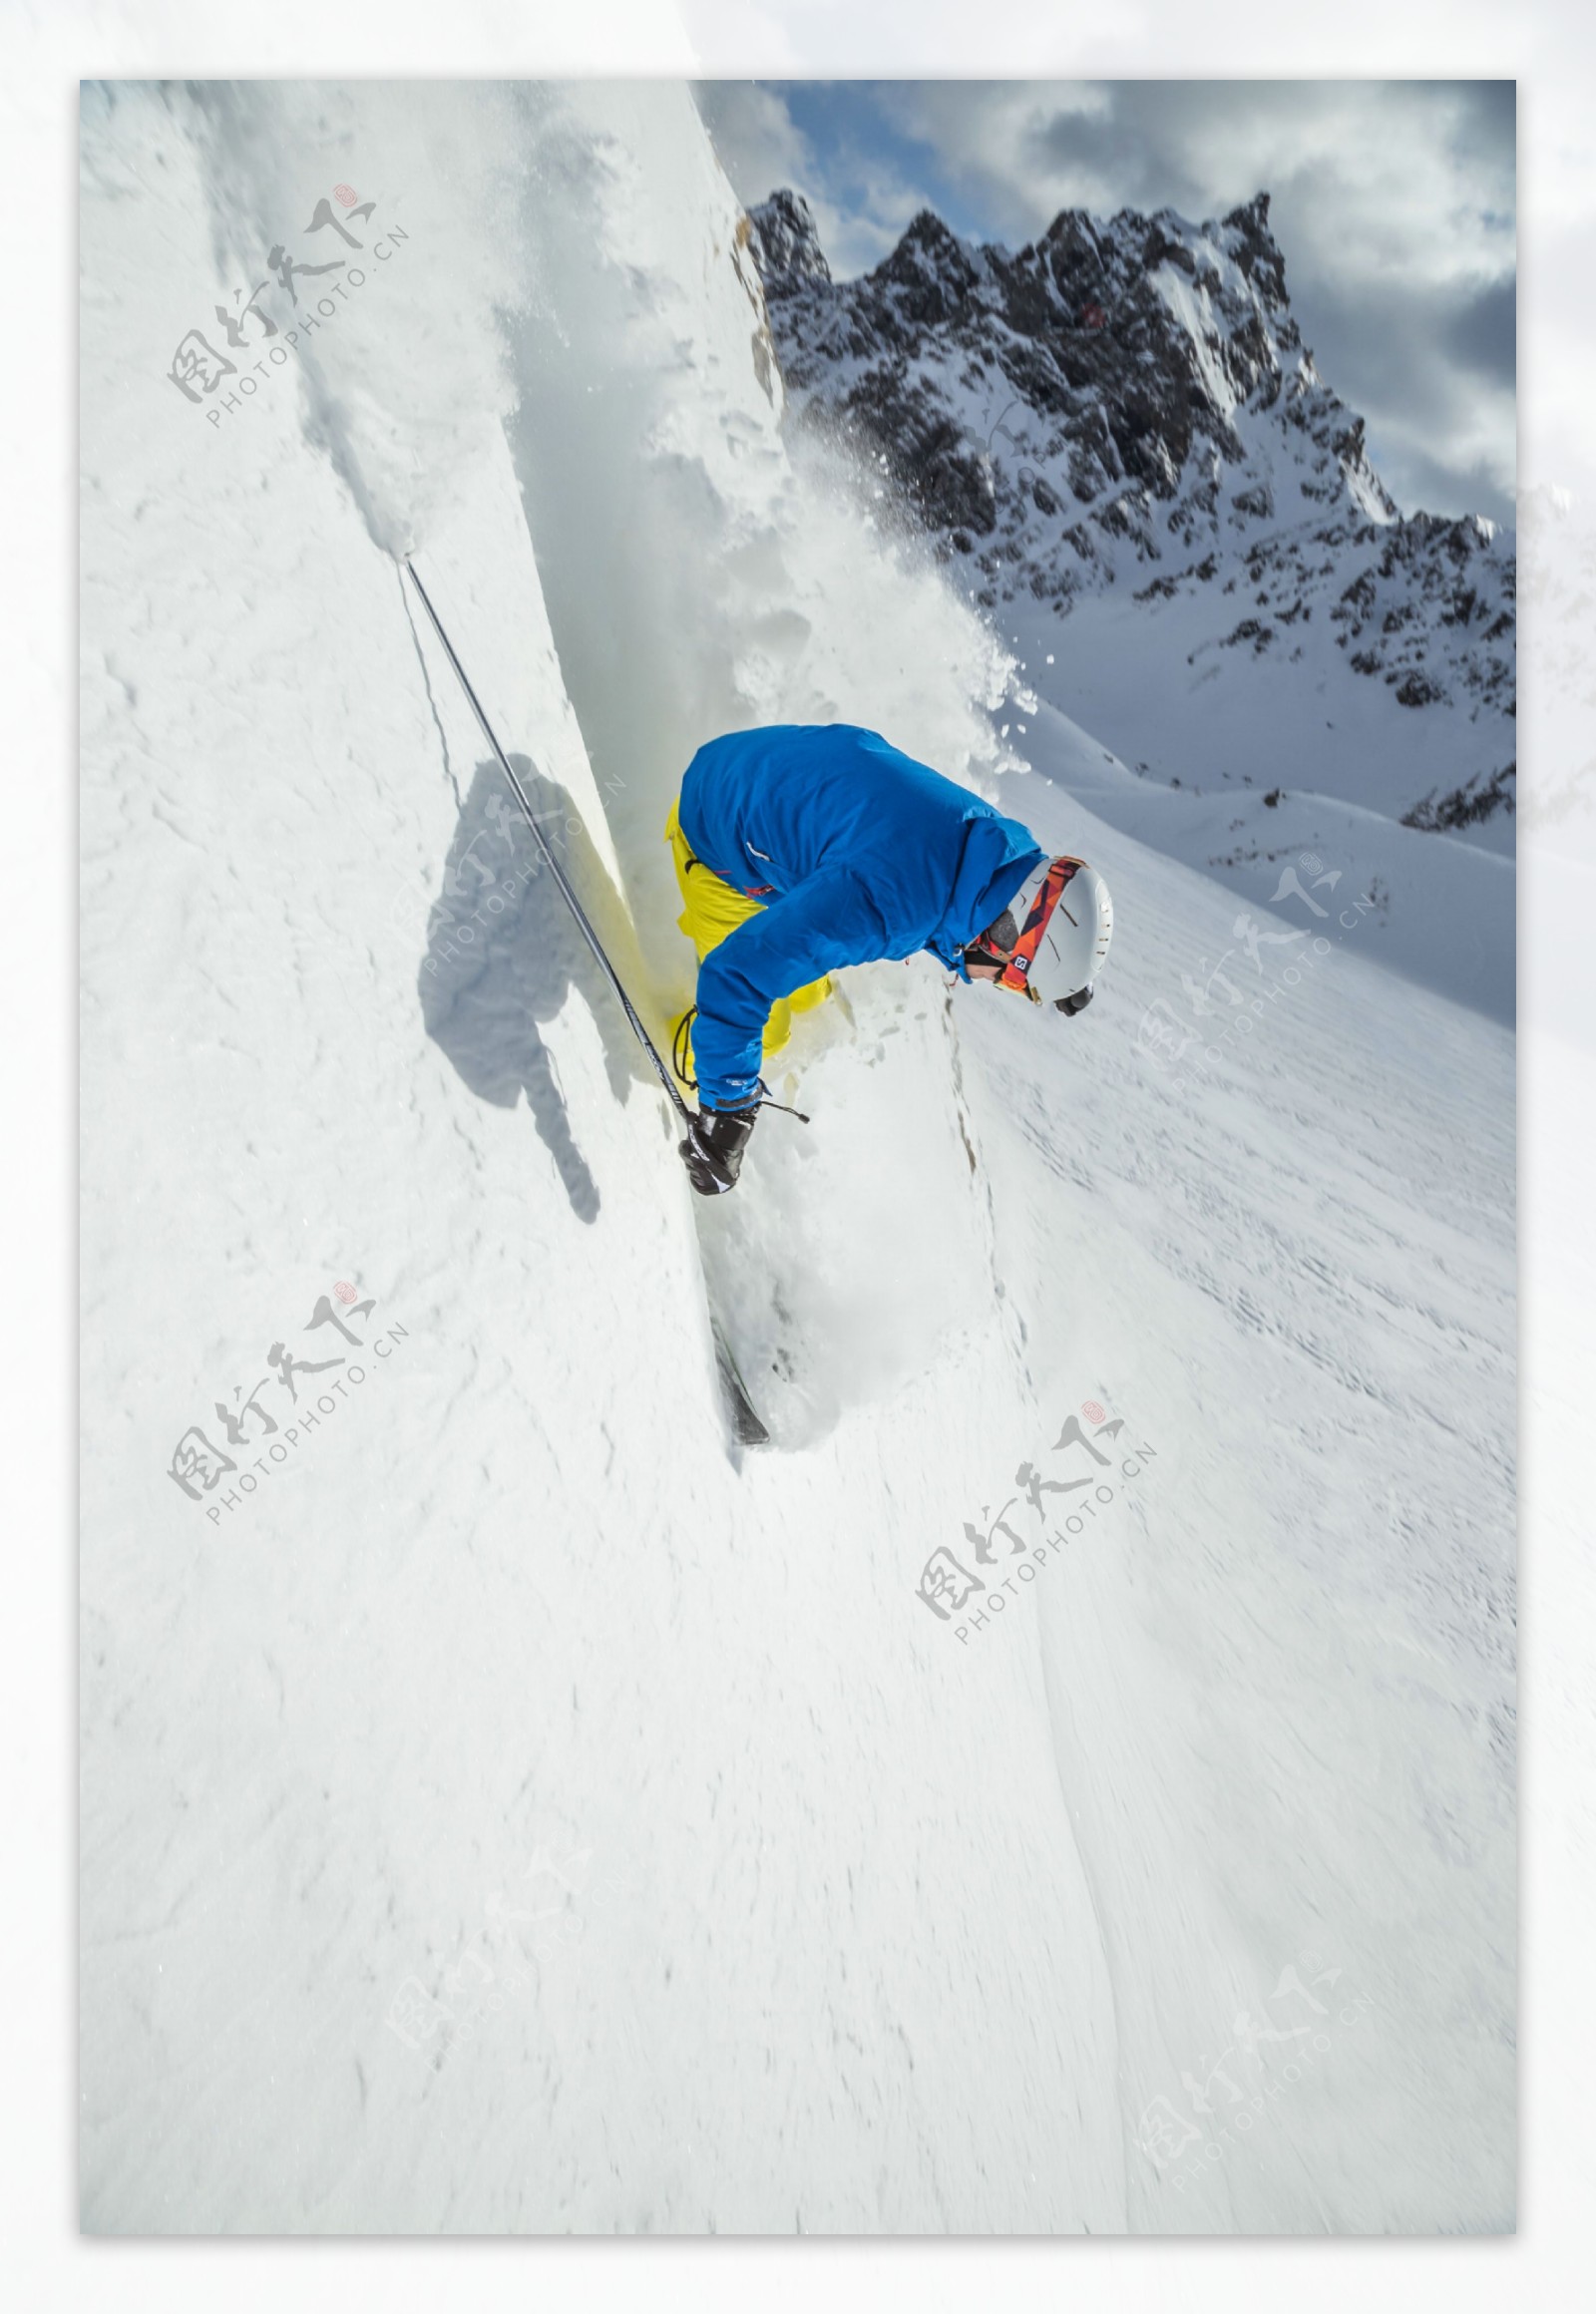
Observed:
[[[680,1155],[701,1196],[736,1185],[766,1099],[763,1053],[830,995],[830,972],[925,949],[1078,1014],[1113,935],[1094,868],[858,724],[768,724],[699,747],[666,819],[699,1000],[675,1069],[699,1115]]]

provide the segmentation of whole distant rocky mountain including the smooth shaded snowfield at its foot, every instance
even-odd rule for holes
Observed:
[[[923,211],[835,282],[807,201],[775,192],[752,248],[796,414],[1039,646],[1052,706],[1159,778],[1510,840],[1513,539],[1397,511],[1268,218],[1265,192],[1207,224],[1064,211],[1011,255]]]

